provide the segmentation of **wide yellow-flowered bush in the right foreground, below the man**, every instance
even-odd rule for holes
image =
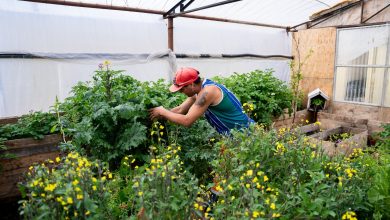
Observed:
[[[373,183],[371,158],[361,150],[329,158],[320,146],[287,129],[237,132],[217,143],[213,161],[220,196],[216,219],[341,218],[353,212],[372,217],[367,193]]]

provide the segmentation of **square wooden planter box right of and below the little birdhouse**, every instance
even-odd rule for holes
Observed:
[[[346,138],[332,141],[331,137],[346,134]],[[337,154],[349,155],[354,148],[364,148],[367,146],[367,129],[339,126],[310,135],[310,141],[320,144],[326,154],[334,156]]]

